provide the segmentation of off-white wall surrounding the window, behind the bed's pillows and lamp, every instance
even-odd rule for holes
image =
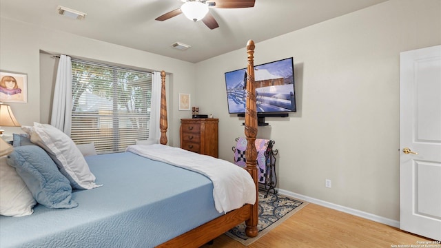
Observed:
[[[28,103],[10,103],[21,125],[32,125],[34,121],[48,123],[50,113],[48,91],[52,88],[53,82],[50,80],[54,71],[46,66],[42,69],[43,75],[40,74],[41,61],[51,64],[50,57],[40,58],[41,51],[68,54],[130,68],[165,70],[169,90],[167,96],[169,143],[174,146],[180,145],[180,119],[190,118],[191,112],[178,111],[178,93],[185,92],[194,95],[194,63],[1,18],[0,68],[28,74]],[[4,129],[6,133],[20,132],[19,127],[4,127]]]

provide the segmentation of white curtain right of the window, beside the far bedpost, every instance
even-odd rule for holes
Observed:
[[[161,72],[153,72],[152,80],[152,104],[150,106],[150,126],[147,143],[159,143],[161,130],[159,130],[159,118],[161,115]]]

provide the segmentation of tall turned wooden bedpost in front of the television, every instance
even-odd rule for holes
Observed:
[[[256,203],[251,205],[252,214],[245,223],[247,225],[245,233],[249,237],[256,237],[258,234],[258,171],[257,171],[257,107],[256,107],[256,85],[254,85],[254,41],[247,43],[248,66],[247,66],[247,103],[245,108],[245,136],[247,137],[247,149],[245,158],[247,159],[247,171],[251,174],[256,185]]]

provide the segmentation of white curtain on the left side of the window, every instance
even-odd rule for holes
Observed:
[[[72,61],[70,56],[60,55],[55,81],[54,101],[50,125],[70,136],[72,124]]]

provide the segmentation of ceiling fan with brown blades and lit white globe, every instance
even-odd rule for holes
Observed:
[[[254,7],[256,0],[179,0],[184,4],[181,8],[167,12],[161,17],[156,18],[156,21],[165,21],[178,14],[184,14],[185,17],[192,21],[202,20],[209,29],[218,28],[218,22],[214,19],[212,14],[208,12],[208,8],[250,8]]]

